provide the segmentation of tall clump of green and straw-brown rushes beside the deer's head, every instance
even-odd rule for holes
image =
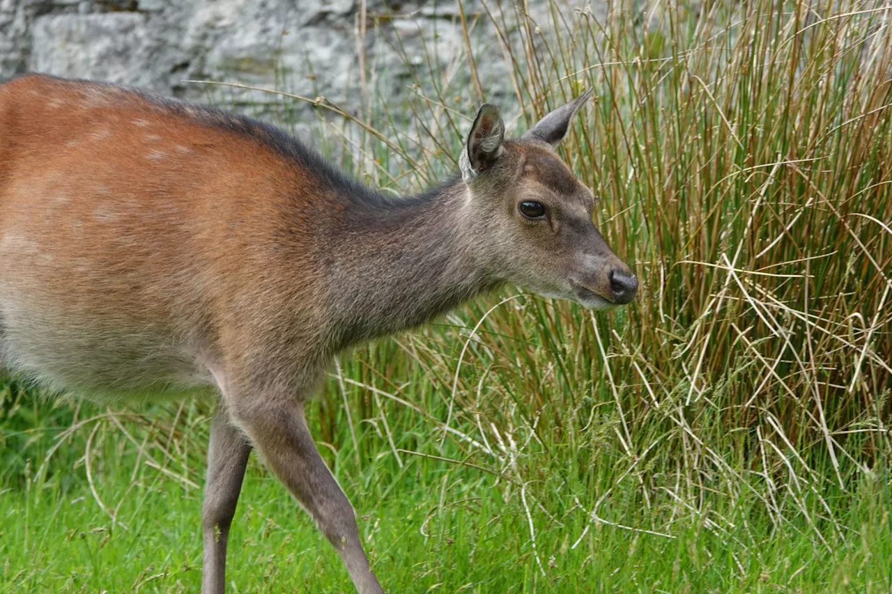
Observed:
[[[467,432],[455,447],[517,483],[554,473],[591,485],[592,473],[629,470],[648,506],[669,497],[700,513],[707,500],[753,497],[778,526],[802,516],[830,538],[840,526],[826,490],[889,479],[890,9],[660,4],[638,19],[617,6],[599,22],[551,8],[549,23],[498,3],[476,16],[497,29],[531,120],[595,89],[560,150],[601,197],[599,223],[634,262],[640,299],[599,315],[501,294],[344,373],[388,391],[417,374],[425,401],[413,401]],[[466,57],[475,78],[483,57]],[[409,134],[387,103],[371,108],[406,147],[401,169],[384,157],[392,146],[362,136],[379,185],[435,177],[457,153],[444,137],[467,128],[455,106],[478,100],[475,85],[425,63]],[[420,163],[415,145],[430,151]],[[365,394],[354,417],[382,414],[374,391],[348,392]],[[384,406],[388,418],[417,414]]]

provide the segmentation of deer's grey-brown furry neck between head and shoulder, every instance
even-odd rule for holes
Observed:
[[[337,246],[328,276],[335,350],[423,324],[496,285],[475,257],[468,206],[458,179],[344,209],[330,242]]]

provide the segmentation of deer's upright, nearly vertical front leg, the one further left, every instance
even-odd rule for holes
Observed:
[[[208,479],[202,506],[202,594],[223,594],[226,590],[229,525],[235,515],[250,453],[251,445],[244,433],[231,424],[226,411],[220,407],[211,421]]]

